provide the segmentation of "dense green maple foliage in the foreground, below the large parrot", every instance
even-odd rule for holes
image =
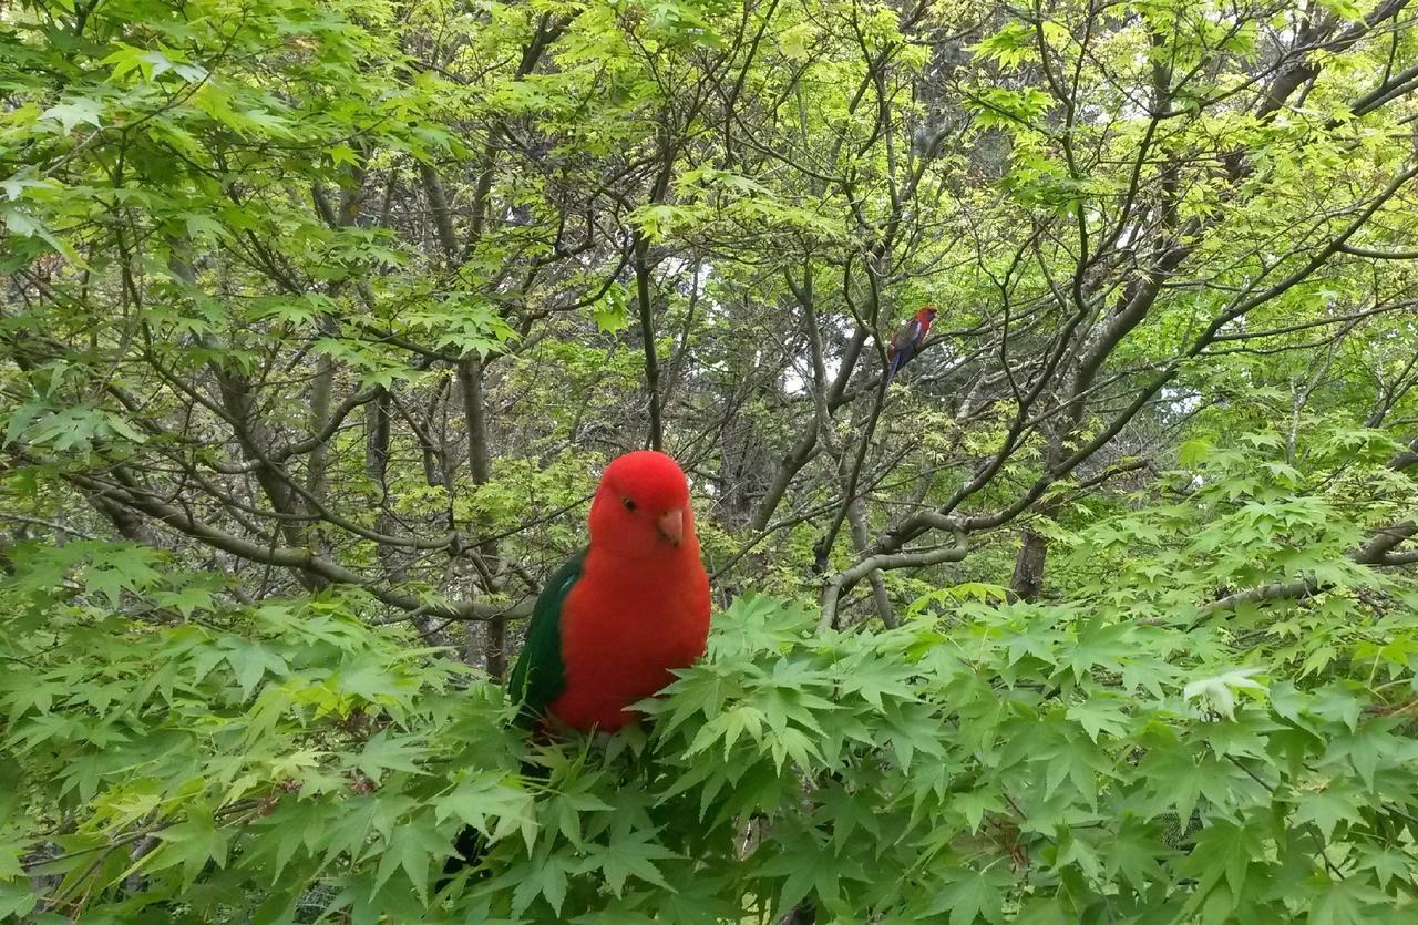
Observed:
[[[1373,470],[1307,488],[1255,443],[1081,533],[1066,603],[966,585],[900,628],[821,634],[743,597],[644,729],[553,745],[357,596],[227,606],[128,546],[20,548],[0,895],[223,921],[770,921],[804,899],[842,922],[1412,921],[1418,592],[1283,553],[1343,549],[1398,488],[1366,511]],[[1322,590],[1202,606],[1295,575]],[[438,892],[464,824],[484,865]]]

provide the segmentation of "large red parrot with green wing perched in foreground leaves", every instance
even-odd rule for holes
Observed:
[[[613,460],[591,502],[590,545],[546,583],[508,682],[523,724],[614,732],[635,701],[703,655],[709,576],[689,484],[672,458]]]

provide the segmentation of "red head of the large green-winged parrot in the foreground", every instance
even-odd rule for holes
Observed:
[[[591,548],[625,556],[699,555],[689,481],[654,450],[611,460],[591,502]]]

